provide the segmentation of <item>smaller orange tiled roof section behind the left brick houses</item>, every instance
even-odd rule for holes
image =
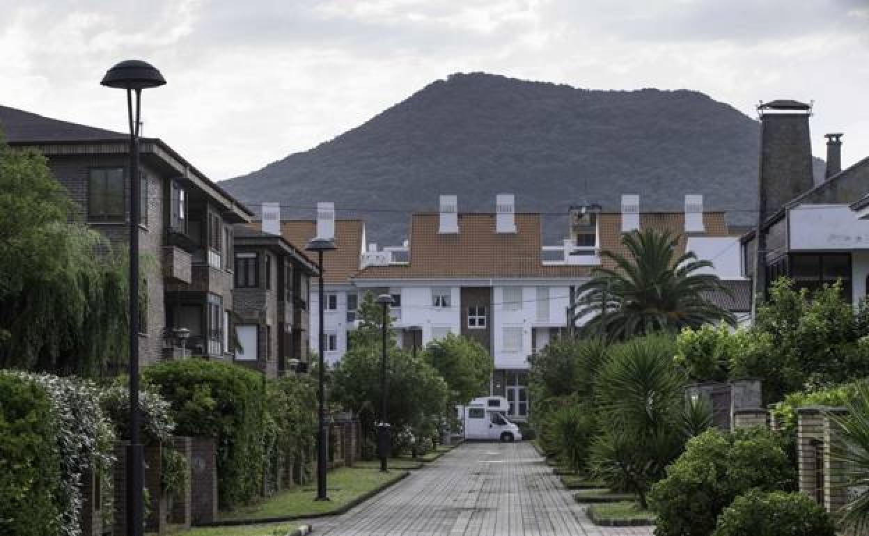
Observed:
[[[332,284],[348,283],[359,271],[359,254],[362,252],[362,236],[365,224],[362,220],[335,220],[335,251],[323,254],[323,281]],[[305,250],[308,241],[316,234],[313,220],[286,220],[281,222],[284,240]],[[317,255],[307,252],[315,263]]]

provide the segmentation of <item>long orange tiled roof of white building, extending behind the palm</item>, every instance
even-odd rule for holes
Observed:
[[[517,214],[516,232],[494,232],[494,214],[460,214],[459,233],[438,233],[439,215],[413,215],[410,228],[410,262],[406,266],[368,267],[355,279],[457,279],[457,278],[585,278],[593,267],[544,266],[541,253],[541,216]],[[724,213],[704,214],[707,236],[726,236]],[[682,213],[648,213],[640,215],[641,228],[658,228],[682,233]],[[680,240],[682,251],[685,238]],[[621,215],[600,215],[600,246],[622,255]],[[609,265],[605,261],[605,266]]]

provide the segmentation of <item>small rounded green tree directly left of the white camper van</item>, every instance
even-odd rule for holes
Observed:
[[[447,382],[451,407],[488,392],[494,361],[479,342],[448,334],[429,342],[423,357]]]

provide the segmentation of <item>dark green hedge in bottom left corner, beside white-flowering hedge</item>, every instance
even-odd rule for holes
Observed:
[[[58,427],[43,388],[0,374],[0,533],[59,532]]]

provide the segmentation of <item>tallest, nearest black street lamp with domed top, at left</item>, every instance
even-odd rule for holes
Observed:
[[[139,440],[139,125],[142,90],[166,83],[153,65],[127,60],[106,71],[101,84],[126,89],[129,117],[129,446],[127,447],[127,533],[141,536],[143,522],[142,444]],[[136,114],[133,114],[133,95]]]

